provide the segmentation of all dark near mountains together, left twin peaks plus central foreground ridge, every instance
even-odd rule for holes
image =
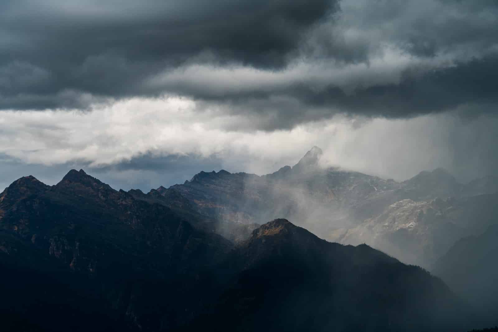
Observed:
[[[206,174],[229,176],[220,173]],[[2,327],[465,328],[469,308],[418,267],[367,245],[327,242],[281,219],[234,245],[207,230],[211,220],[191,201],[160,190],[116,191],[82,170],[52,187],[32,177],[9,186],[0,195]]]

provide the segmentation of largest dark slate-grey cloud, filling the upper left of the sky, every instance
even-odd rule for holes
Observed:
[[[194,56],[281,68],[335,8],[334,0],[2,1],[0,107],[83,106],[64,98],[71,92],[150,95],[141,80]]]

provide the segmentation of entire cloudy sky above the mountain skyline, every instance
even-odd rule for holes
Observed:
[[[497,174],[497,68],[496,0],[3,0],[0,187],[148,191],[314,145],[466,182]]]

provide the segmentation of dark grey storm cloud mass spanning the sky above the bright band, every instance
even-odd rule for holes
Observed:
[[[251,130],[496,112],[496,1],[2,1],[0,36],[0,109],[173,94]]]

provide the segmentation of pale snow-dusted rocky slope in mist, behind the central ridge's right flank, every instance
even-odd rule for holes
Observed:
[[[333,241],[368,243],[401,261],[429,268],[460,238],[497,222],[498,194],[471,198],[401,200],[353,228],[330,233]]]

